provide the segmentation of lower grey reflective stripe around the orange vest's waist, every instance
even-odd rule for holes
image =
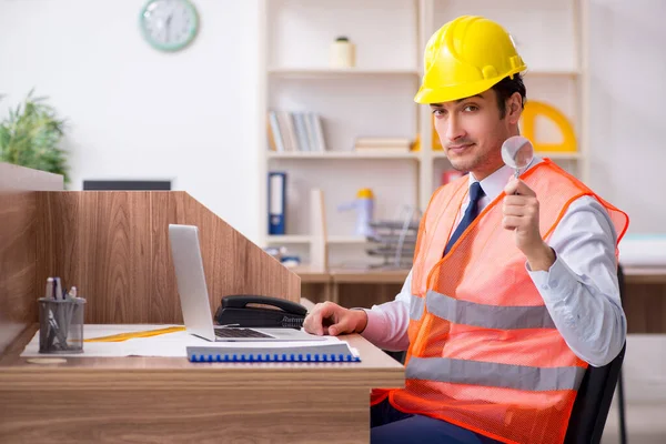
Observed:
[[[534,392],[577,390],[585,367],[533,367],[447,357],[412,356],[406,366],[406,377],[486,385]]]

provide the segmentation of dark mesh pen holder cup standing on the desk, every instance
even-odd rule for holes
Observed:
[[[39,352],[83,353],[83,321],[85,300],[68,297],[57,301],[40,297]]]

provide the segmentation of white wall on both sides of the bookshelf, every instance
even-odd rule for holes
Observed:
[[[193,0],[201,33],[163,54],[144,0],[0,0],[0,115],[32,87],[71,122],[72,184],[169,178],[258,239],[256,0]],[[591,185],[666,232],[666,2],[591,0]],[[261,214],[260,214],[261,213]]]

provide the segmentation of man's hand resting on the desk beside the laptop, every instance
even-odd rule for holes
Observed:
[[[367,324],[363,310],[344,309],[333,302],[314,305],[303,322],[307,333],[336,336],[344,333],[361,333]]]

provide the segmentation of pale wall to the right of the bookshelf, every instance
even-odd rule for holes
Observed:
[[[591,2],[591,185],[666,233],[666,1]]]

